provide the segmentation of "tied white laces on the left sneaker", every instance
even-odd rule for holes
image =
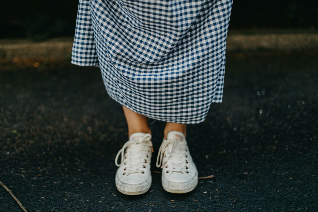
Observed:
[[[147,161],[148,157],[148,148],[151,147],[153,152],[152,142],[151,142],[151,134],[147,133],[143,137],[138,138],[138,140],[128,140],[124,146],[118,151],[115,164],[116,166],[121,166],[121,163],[124,161],[126,176],[130,173],[138,173],[143,171],[139,171],[140,168],[145,168],[144,163],[149,163]],[[126,152],[125,152],[126,149]],[[121,162],[118,164],[118,158],[121,155]],[[141,176],[141,175],[140,175]],[[142,177],[142,176],[141,176]],[[143,178],[143,177],[142,177]]]

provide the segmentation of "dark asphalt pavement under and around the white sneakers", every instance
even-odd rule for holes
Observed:
[[[316,58],[316,51],[227,54],[223,103],[187,133],[199,177],[214,177],[182,195],[162,189],[155,166],[161,121],[150,125],[150,190],[117,191],[114,158],[127,125],[98,68],[6,66],[0,181],[28,211],[318,211]],[[22,211],[2,187],[0,211]]]

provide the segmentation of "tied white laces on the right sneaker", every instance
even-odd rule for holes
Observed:
[[[175,139],[164,140],[159,148],[156,166],[159,168],[162,163],[162,158],[165,157],[165,162],[160,168],[166,166],[166,172],[181,172],[187,177],[188,163],[187,160],[187,143],[183,141],[176,141]],[[165,155],[166,154],[166,155]],[[159,160],[160,157],[160,160]],[[169,161],[168,161],[169,160]],[[189,177],[190,178],[190,177]],[[191,179],[191,178],[190,178]]]

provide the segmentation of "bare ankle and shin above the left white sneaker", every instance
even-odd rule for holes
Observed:
[[[122,106],[122,109],[124,110],[128,124],[128,136],[133,133],[151,133],[151,130],[148,126],[148,118],[146,116],[135,113],[125,106]]]

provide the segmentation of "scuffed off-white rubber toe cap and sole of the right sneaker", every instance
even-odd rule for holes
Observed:
[[[196,177],[192,181],[188,181],[185,183],[175,183],[168,180],[162,180],[162,188],[169,192],[174,194],[184,194],[192,191],[194,188],[197,187],[198,184],[198,174],[196,172]]]

